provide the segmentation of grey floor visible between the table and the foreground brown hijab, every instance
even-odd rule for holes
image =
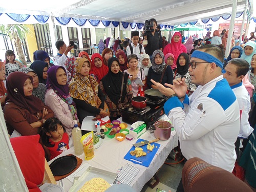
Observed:
[[[178,161],[168,159],[167,162],[175,163]],[[155,192],[157,188],[161,188],[166,191],[171,190],[172,192],[176,192],[176,189],[181,180],[183,165],[183,162],[174,165],[163,164],[157,174],[160,183],[154,189],[148,187],[147,185],[144,185],[141,192]]]

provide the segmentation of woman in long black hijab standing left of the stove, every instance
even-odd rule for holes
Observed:
[[[106,74],[99,86],[105,95],[105,102],[109,106],[110,110],[110,120],[118,119],[120,116],[117,114],[117,104],[120,99],[121,87],[122,87],[122,77],[123,72],[120,71],[119,61],[115,57],[111,57],[108,61],[109,72]],[[124,73],[123,81],[123,102],[132,103],[132,86],[129,75]]]

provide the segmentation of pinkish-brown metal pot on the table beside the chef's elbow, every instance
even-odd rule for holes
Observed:
[[[160,140],[167,140],[170,138],[170,131],[172,130],[172,124],[168,121],[156,121],[154,135]]]

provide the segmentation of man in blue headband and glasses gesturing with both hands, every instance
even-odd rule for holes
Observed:
[[[222,75],[223,57],[222,50],[214,45],[193,52],[188,71],[191,83],[198,88],[189,98],[184,78],[165,84],[171,89],[152,82],[169,97],[164,111],[173,122],[184,157],[199,157],[232,172],[240,114],[236,96]]]

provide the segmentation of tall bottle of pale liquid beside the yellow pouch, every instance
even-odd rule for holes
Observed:
[[[73,137],[75,154],[76,155],[81,155],[83,153],[83,145],[80,142],[81,137],[82,137],[82,131],[78,127],[77,124],[74,125],[74,128],[72,130],[72,137]]]

